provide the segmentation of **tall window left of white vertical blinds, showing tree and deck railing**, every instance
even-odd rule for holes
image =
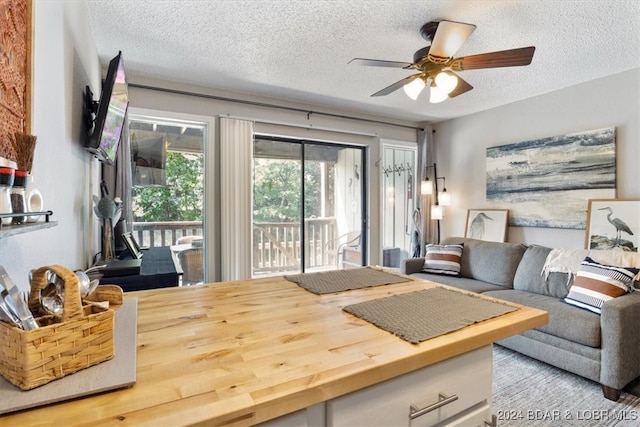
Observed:
[[[206,124],[129,115],[132,231],[143,246],[170,246],[182,284],[204,280]]]

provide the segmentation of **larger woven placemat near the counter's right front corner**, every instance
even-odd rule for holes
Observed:
[[[418,344],[517,307],[444,288],[379,298],[343,308],[394,335]]]

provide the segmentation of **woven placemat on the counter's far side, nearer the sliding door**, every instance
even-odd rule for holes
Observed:
[[[318,295],[409,281],[406,277],[370,267],[293,274],[284,278]]]

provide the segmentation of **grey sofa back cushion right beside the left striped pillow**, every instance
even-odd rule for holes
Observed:
[[[522,259],[525,245],[507,242],[486,242],[469,238],[449,237],[443,244],[463,243],[460,275],[494,285],[513,287],[513,277]]]

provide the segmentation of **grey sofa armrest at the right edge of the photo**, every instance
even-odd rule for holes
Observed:
[[[602,306],[600,383],[622,389],[640,376],[640,292],[607,301]]]

